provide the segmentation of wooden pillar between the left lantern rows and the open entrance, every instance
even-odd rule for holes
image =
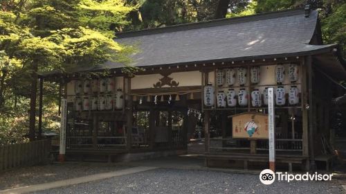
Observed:
[[[134,122],[134,109],[132,96],[129,94],[131,91],[131,78],[127,78],[127,150],[131,150],[132,147],[132,125]]]

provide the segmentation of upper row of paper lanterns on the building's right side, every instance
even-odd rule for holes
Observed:
[[[289,64],[289,80],[291,82],[298,81],[299,69],[296,64]],[[237,76],[236,76],[237,75]],[[275,67],[275,79],[277,83],[284,82],[285,78],[285,67],[282,64],[278,64]],[[261,72],[260,67],[251,67],[250,68],[250,81],[251,84],[257,84],[260,82]],[[216,84],[221,87],[225,84],[228,86],[235,85],[237,80],[239,85],[246,85],[247,75],[245,68],[237,69],[217,69],[216,71]]]

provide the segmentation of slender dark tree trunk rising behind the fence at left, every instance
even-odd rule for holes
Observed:
[[[36,92],[37,92],[37,62],[33,62],[33,73],[30,94],[30,118],[29,118],[29,139],[35,141],[35,120],[36,120]]]

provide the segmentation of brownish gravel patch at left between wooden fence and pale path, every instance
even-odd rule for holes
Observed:
[[[125,167],[104,163],[64,163],[17,168],[0,174],[0,190],[106,173],[123,168]]]

